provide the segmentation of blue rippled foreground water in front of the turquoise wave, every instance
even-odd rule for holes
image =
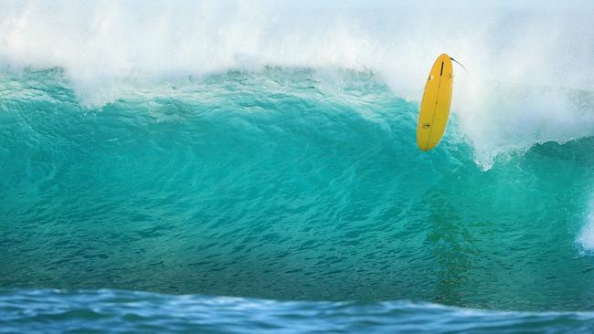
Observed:
[[[406,301],[273,301],[118,290],[0,290],[11,333],[590,333],[589,312],[501,312]]]

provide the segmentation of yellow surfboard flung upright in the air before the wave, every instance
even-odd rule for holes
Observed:
[[[451,58],[442,54],[431,68],[420,102],[417,146],[421,151],[434,148],[443,136],[450,116],[453,78]]]

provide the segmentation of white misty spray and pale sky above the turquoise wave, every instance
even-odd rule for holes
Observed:
[[[594,135],[591,95],[575,98],[594,90],[587,1],[0,1],[0,63],[64,68],[90,105],[122,86],[264,65],[371,68],[419,100],[448,52],[471,72],[455,68],[452,107],[483,167],[536,142]]]

